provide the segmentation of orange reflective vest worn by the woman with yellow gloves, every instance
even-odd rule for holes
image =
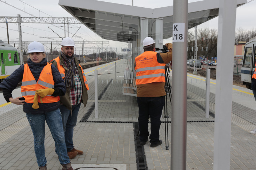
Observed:
[[[54,80],[52,75],[52,64],[47,63],[47,65],[43,68],[40,73],[39,79],[36,82],[33,74],[29,69],[28,64],[24,64],[24,73],[21,84],[21,94],[25,98],[26,103],[34,103],[34,95],[36,94],[36,90],[39,89],[48,89],[54,88]],[[54,103],[58,102],[60,97],[54,97],[51,95],[47,95],[40,99],[38,98],[38,103]],[[42,101],[42,102],[41,102]]]

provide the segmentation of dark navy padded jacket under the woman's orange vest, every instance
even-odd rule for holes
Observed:
[[[40,63],[33,63],[30,58],[28,59],[28,65],[31,73],[34,75],[36,81],[38,81],[40,73],[45,65],[47,65],[47,60],[44,58]],[[66,87],[63,79],[61,78],[59,70],[52,64],[52,75],[54,84],[54,93],[52,96],[63,96],[66,92]],[[22,81],[24,72],[24,65],[17,68],[10,76],[5,78],[0,84],[0,88],[3,90],[3,97],[6,102],[10,102],[9,98],[12,97],[11,92],[16,88],[17,84]],[[54,103],[38,103],[39,108],[33,109],[33,103],[25,103],[23,105],[23,111],[25,113],[44,113],[51,112],[60,107],[60,102]]]

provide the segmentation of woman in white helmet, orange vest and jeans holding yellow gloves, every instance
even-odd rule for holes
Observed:
[[[23,105],[34,136],[34,151],[40,170],[47,170],[45,157],[45,121],[55,141],[62,170],[73,170],[68,157],[62,127],[60,97],[66,92],[60,72],[45,58],[44,46],[32,42],[28,46],[28,63],[21,65],[0,84],[7,102]],[[13,98],[11,92],[22,81],[22,97]]]

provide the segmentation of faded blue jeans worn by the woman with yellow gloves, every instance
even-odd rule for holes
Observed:
[[[34,150],[39,167],[46,165],[45,157],[45,121],[52,133],[59,161],[61,164],[70,163],[62,128],[60,110],[46,112],[44,114],[26,113],[34,136]]]

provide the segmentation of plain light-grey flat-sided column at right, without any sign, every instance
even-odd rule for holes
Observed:
[[[236,0],[219,0],[214,170],[230,169]]]

